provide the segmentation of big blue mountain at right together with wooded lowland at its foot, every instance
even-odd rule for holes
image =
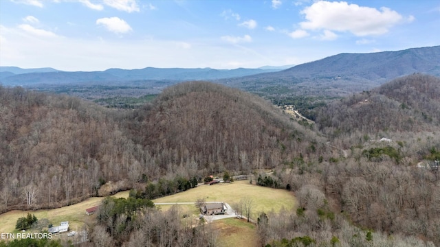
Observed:
[[[245,91],[344,96],[412,73],[440,76],[440,46],[338,54],[283,71],[219,80]],[[276,82],[276,84],[274,83]],[[273,89],[278,86],[278,91]]]

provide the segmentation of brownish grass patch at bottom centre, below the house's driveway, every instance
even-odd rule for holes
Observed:
[[[236,218],[216,220],[212,228],[219,233],[219,246],[258,246],[256,226],[246,220]]]

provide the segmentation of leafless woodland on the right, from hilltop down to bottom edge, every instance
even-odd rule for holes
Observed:
[[[440,174],[427,166],[440,160],[439,95],[439,78],[414,74],[319,110],[316,126],[340,152],[276,169],[300,205],[267,215],[263,242],[439,246]]]

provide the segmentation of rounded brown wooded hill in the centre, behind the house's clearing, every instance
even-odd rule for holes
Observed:
[[[270,102],[209,82],[171,86],[134,117],[139,126],[131,126],[133,139],[163,168],[188,163],[220,172],[274,167],[311,154],[316,139]]]

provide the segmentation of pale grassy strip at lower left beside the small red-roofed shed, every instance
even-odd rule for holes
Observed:
[[[122,191],[116,193],[114,197],[127,198],[129,196],[129,191]],[[84,224],[89,224],[94,222],[95,215],[88,216],[85,214],[85,210],[96,205],[99,205],[103,198],[88,198],[83,202],[62,207],[59,209],[43,209],[36,211],[21,211],[14,210],[8,213],[2,213],[0,215],[0,233],[16,233],[15,223],[19,217],[25,217],[28,213],[34,214],[39,220],[47,219],[50,224],[58,226],[60,222],[68,221],[70,231],[78,231]]]

